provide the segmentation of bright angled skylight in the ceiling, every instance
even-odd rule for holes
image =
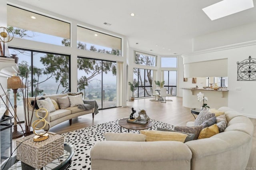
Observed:
[[[211,20],[216,20],[253,7],[253,0],[222,0],[202,10]]]

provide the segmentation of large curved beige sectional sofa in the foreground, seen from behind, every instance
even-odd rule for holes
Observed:
[[[185,143],[98,142],[90,153],[92,170],[244,170],[254,126],[250,119],[228,107],[219,110],[225,112],[228,126],[210,138]]]

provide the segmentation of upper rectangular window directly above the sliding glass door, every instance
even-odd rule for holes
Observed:
[[[121,56],[121,38],[77,26],[77,48]]]

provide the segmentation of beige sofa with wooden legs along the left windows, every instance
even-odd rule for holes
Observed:
[[[94,118],[94,112],[95,112],[96,108],[92,108],[90,110],[84,110],[84,109],[78,109],[78,106],[75,106],[75,107],[67,107],[66,109],[60,109],[60,105],[58,103],[57,97],[61,98],[61,97],[65,97],[67,95],[68,94],[54,94],[54,95],[44,95],[44,96],[36,97],[36,99],[40,99],[41,97],[44,97],[46,99],[47,97],[50,97],[50,99],[54,99],[54,101],[56,101],[56,103],[58,104],[58,109],[56,111],[50,112],[48,114],[48,117],[46,117],[46,121],[48,121],[50,123],[50,127],[53,127],[59,123],[67,121],[67,120],[69,120],[70,125],[72,125],[72,118],[75,118],[75,117],[78,117],[81,115],[90,114],[90,113],[92,113],[92,119]],[[28,97],[28,106],[29,106],[28,109],[29,109],[30,119],[32,117],[32,110],[33,110],[33,107],[30,105],[30,103],[34,99],[35,99],[35,97]],[[35,115],[36,111],[37,110],[34,109],[32,123],[36,119],[38,119]],[[44,113],[39,113],[39,115],[40,114],[45,115]],[[46,128],[47,127],[45,127],[45,129]]]

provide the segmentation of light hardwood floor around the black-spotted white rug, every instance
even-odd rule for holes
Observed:
[[[150,99],[152,98],[136,99],[135,101],[128,101],[127,107],[100,110],[99,113],[95,115],[94,119],[92,119],[92,114],[83,115],[73,119],[71,126],[69,125],[69,121],[65,121],[52,127],[50,131],[61,134],[72,130],[129,117],[132,113],[132,107],[134,107],[136,113],[138,113],[140,109],[144,109],[146,110],[146,113],[150,119],[168,123],[170,125],[185,126],[188,121],[195,120],[190,113],[190,108],[182,106],[181,97],[168,97],[168,99],[172,99],[173,101],[167,101],[166,103],[150,101]],[[247,167],[250,169],[256,169],[256,119],[251,119],[251,121],[254,124],[253,148]]]

